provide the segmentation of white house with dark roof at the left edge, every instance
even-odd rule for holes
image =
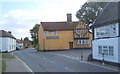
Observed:
[[[0,51],[10,52],[16,50],[16,38],[11,32],[0,30]]]

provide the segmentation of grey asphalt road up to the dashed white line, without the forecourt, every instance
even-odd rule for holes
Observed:
[[[48,52],[27,49],[14,52],[33,72],[116,72],[115,70],[95,66]]]

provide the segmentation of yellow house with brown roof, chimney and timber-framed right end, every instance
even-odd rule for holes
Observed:
[[[38,32],[39,50],[64,50],[79,48],[81,46],[91,47],[91,41],[89,41],[90,35],[87,30],[87,36],[82,38],[88,39],[89,44],[81,44],[81,46],[77,44],[79,40],[76,32],[80,29],[80,26],[84,24],[72,22],[71,18],[71,14],[67,14],[67,22],[41,22]],[[81,28],[86,27],[82,26]]]

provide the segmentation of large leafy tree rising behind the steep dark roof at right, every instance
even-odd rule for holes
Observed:
[[[83,21],[87,26],[90,26],[105,8],[108,2],[86,2],[77,11],[76,17],[79,21]]]

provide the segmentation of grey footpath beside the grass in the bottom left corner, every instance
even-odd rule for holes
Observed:
[[[1,60],[6,61],[6,73],[32,72],[31,69],[24,62],[22,62],[17,56],[16,59],[1,59]]]

